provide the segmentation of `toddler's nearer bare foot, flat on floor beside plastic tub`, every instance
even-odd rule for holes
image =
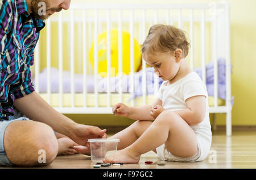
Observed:
[[[141,155],[138,155],[137,153],[134,153],[133,151],[125,148],[122,150],[118,150],[112,156],[105,157],[105,160],[103,160],[103,162],[138,163],[140,157]]]

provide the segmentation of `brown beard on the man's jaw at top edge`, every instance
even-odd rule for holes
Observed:
[[[59,12],[62,9],[49,9],[49,0],[32,0],[31,1],[31,11],[34,14],[35,18],[38,19],[47,19],[49,17],[49,10]],[[40,3],[40,4],[39,4]]]

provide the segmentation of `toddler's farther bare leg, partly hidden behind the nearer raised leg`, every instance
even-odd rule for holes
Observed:
[[[115,135],[111,136],[111,139],[120,139],[118,143],[117,150],[126,148],[127,146],[133,144],[144,131],[152,124],[149,120],[137,120],[126,129],[116,133]]]

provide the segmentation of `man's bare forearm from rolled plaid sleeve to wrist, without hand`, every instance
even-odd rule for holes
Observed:
[[[35,91],[22,98],[15,99],[14,106],[29,119],[46,123],[54,131],[63,135],[70,137],[71,131],[75,128],[75,122],[53,109]]]

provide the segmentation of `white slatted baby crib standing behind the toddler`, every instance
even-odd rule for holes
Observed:
[[[64,13],[67,13],[65,15]],[[55,24],[53,24],[55,23]],[[64,23],[68,24],[68,34],[64,35]],[[136,37],[139,44],[143,43],[147,32],[153,24],[163,23],[172,24],[181,29],[187,27],[189,38],[191,40],[191,49],[188,60],[191,68],[195,68],[196,63],[203,67],[203,81],[206,83],[206,64],[210,60],[214,62],[214,95],[212,97],[212,106],[209,107],[210,113],[226,114],[226,135],[232,134],[232,97],[231,97],[231,65],[230,65],[230,19],[229,3],[175,3],[165,5],[88,5],[72,4],[67,12],[60,12],[46,21],[46,82],[47,90],[40,91],[39,74],[42,70],[40,65],[45,59],[40,59],[42,51],[42,39],[40,39],[35,52],[35,76],[34,83],[36,91],[51,104],[53,108],[63,114],[111,114],[112,106],[117,102],[127,103],[127,99],[134,92],[135,73],[134,67],[134,43],[130,43],[130,65],[131,65],[131,91],[123,93],[122,85],[119,83],[118,93],[111,93],[110,88],[110,30],[118,29],[118,39],[122,39],[121,31],[126,28],[130,32],[130,37]],[[57,50],[52,51],[52,27],[57,24]],[[94,92],[87,91],[86,82],[88,74],[98,74],[97,43],[94,43],[94,68],[89,64],[88,49],[92,41],[97,42],[98,34],[102,31],[107,33],[107,90],[106,93],[100,93],[97,88],[97,76],[94,76]],[[198,34],[199,33],[199,34]],[[194,35],[197,34],[197,37]],[[208,36],[207,36],[208,35]],[[68,43],[63,43],[63,36],[68,36]],[[75,36],[77,38],[75,38]],[[55,37],[55,36],[54,36]],[[208,38],[210,37],[210,38]],[[78,44],[78,45],[77,45]],[[78,48],[75,48],[77,45]],[[69,76],[71,78],[70,92],[64,93],[63,89],[63,57],[65,48],[68,48],[69,56]],[[118,43],[118,69],[122,72],[122,43]],[[200,52],[200,53],[198,53]],[[52,54],[58,55],[52,59]],[[220,103],[218,99],[218,62],[217,58],[223,57],[226,64],[226,99]],[[59,69],[59,91],[52,92],[51,84],[51,66],[52,62],[58,62]],[[77,65],[77,67],[75,67]],[[41,70],[40,70],[41,68]],[[82,91],[75,92],[75,68],[82,77]],[[130,106],[139,106],[148,104],[154,98],[154,95],[147,95],[146,91],[146,64],[142,61],[142,96],[138,99],[132,99]],[[119,79],[122,74],[119,73]],[[158,77],[154,77],[154,93],[158,91]],[[42,86],[42,85],[41,85]]]

